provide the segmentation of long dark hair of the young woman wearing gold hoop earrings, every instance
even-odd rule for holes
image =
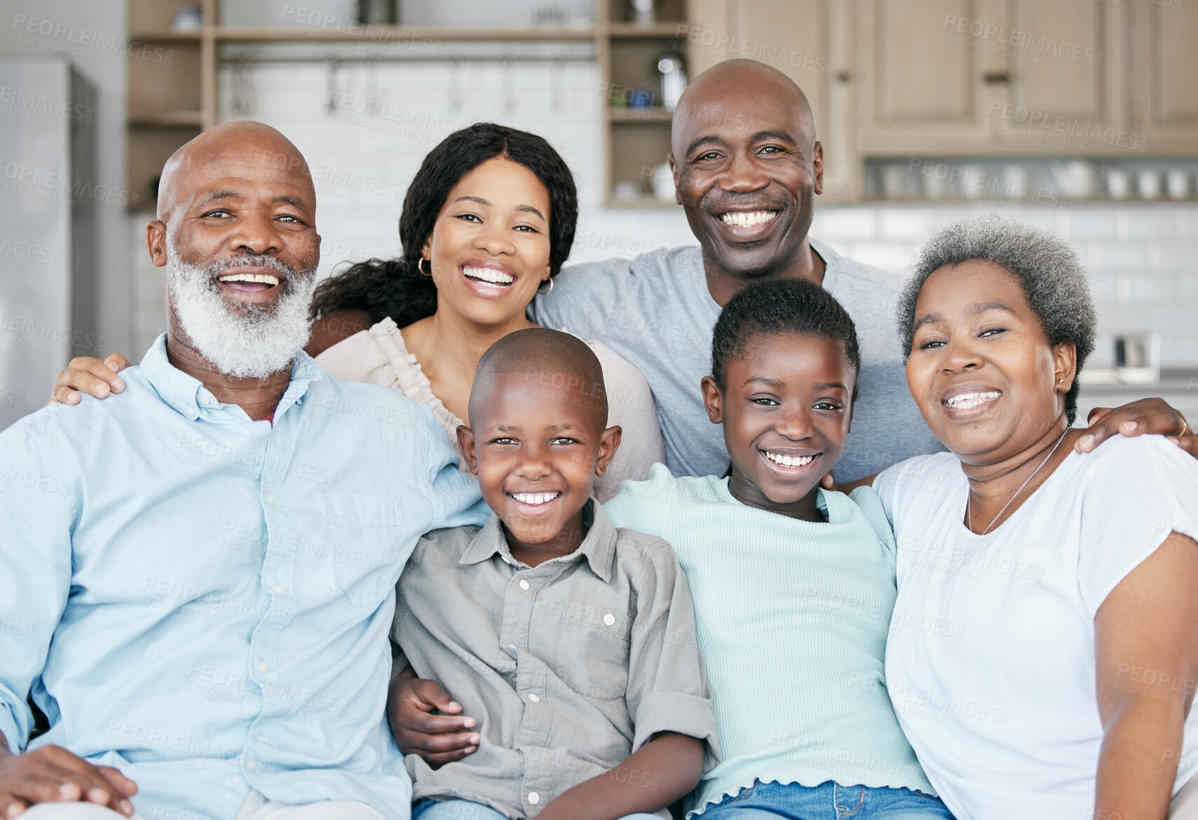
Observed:
[[[549,265],[550,275],[556,275],[570,255],[579,220],[579,195],[569,166],[536,134],[494,122],[476,122],[441,140],[420,163],[399,217],[404,255],[358,262],[322,281],[313,296],[313,320],[334,310],[357,308],[368,311],[371,322],[391,316],[395,324],[405,327],[436,312],[437,288],[417,268],[420,249],[453,187],[496,157],[524,165],[549,192]]]

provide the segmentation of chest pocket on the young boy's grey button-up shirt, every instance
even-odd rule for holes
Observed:
[[[628,691],[628,608],[563,601],[557,637],[558,678],[586,698],[615,700]]]

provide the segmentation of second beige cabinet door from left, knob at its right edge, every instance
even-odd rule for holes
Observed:
[[[1005,65],[974,37],[993,0],[859,0],[860,147],[871,156],[985,153],[998,144],[992,102]],[[997,24],[994,24],[997,28]],[[962,34],[961,29],[964,30]],[[985,32],[985,29],[982,29]]]

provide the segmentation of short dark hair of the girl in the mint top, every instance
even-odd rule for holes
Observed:
[[[861,371],[857,328],[848,311],[819,285],[806,279],[772,279],[739,291],[715,321],[712,336],[712,378],[727,388],[727,364],[739,359],[758,336],[793,333],[840,342],[854,377]],[[853,383],[857,399],[857,379]]]

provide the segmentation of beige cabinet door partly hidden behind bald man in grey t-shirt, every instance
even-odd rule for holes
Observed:
[[[824,196],[854,199],[853,7],[846,0],[690,0],[691,75],[733,57],[778,68],[811,103],[824,150]]]

